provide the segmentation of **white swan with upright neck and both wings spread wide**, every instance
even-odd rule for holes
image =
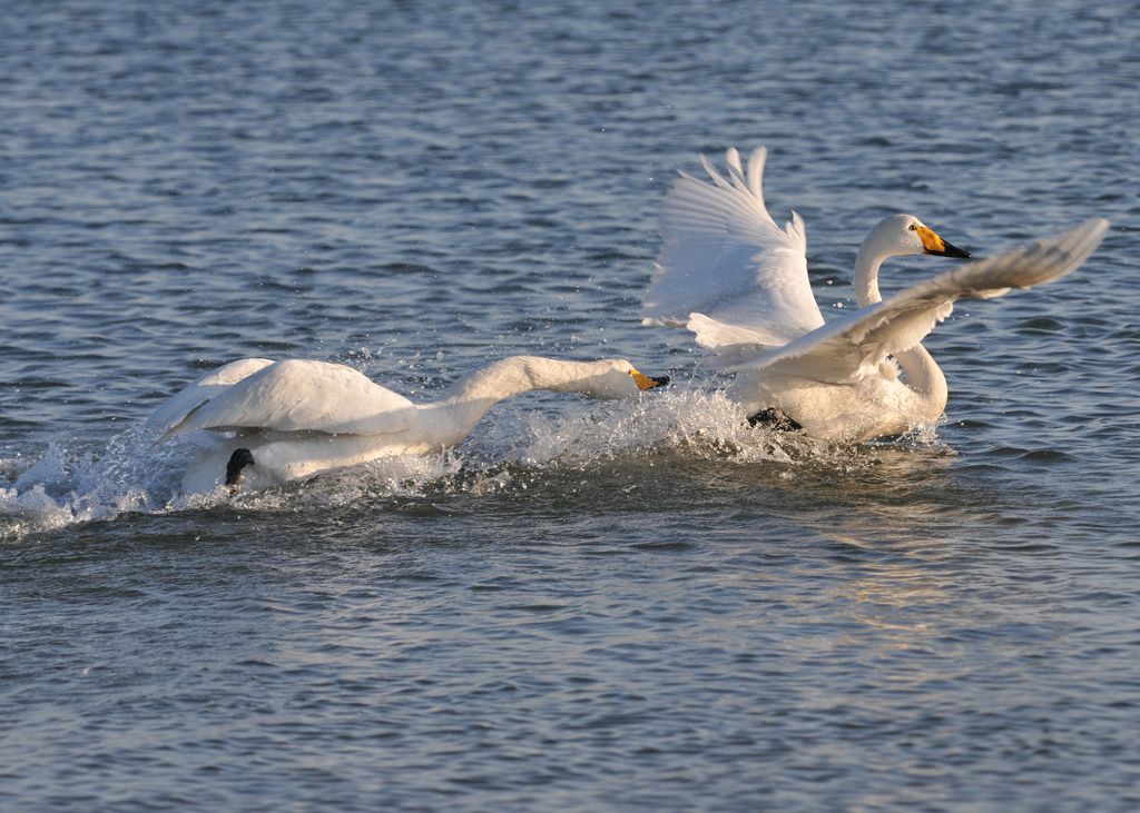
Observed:
[[[865,441],[937,420],[946,406],[946,378],[921,340],[953,303],[1059,279],[1084,262],[1108,229],[1108,221],[1090,220],[882,302],[885,260],[969,256],[918,217],[891,215],[855,258],[860,309],[824,325],[807,277],[803,219],[792,212],[780,229],[764,206],[765,156],[764,147],[756,149],[746,173],[740,154],[728,149],[727,178],[701,156],[711,182],[682,173],[661,214],[663,246],[642,323],[687,327],[698,344],[715,350],[736,370],[728,396],[747,408],[751,422],[801,428],[825,441]]]

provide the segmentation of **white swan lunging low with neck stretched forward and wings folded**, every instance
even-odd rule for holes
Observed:
[[[600,399],[667,384],[628,361],[557,361],[518,355],[472,372],[433,403],[416,404],[357,370],[323,361],[241,359],[172,396],[148,425],[163,440],[212,435],[189,468],[185,493],[218,485],[263,488],[392,454],[423,454],[462,442],[505,397],[532,389]]]

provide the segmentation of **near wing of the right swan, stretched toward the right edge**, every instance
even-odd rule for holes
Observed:
[[[1072,272],[1100,245],[1107,229],[1107,220],[1090,220],[1056,237],[938,274],[734,369],[787,370],[831,383],[858,380],[891,353],[919,344],[950,315],[956,299],[1001,296],[1010,288],[1043,285]]]

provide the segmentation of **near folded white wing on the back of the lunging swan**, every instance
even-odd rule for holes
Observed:
[[[168,435],[194,429],[375,435],[407,428],[415,409],[402,395],[350,367],[291,359],[271,363],[199,403],[170,425]]]

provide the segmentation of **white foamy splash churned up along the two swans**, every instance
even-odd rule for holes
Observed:
[[[637,402],[571,402],[543,411],[504,408],[462,451],[383,458],[236,496],[221,487],[204,494],[179,493],[182,471],[198,445],[193,436],[155,441],[139,426],[113,437],[98,454],[52,444],[31,463],[23,458],[0,460],[0,540],[125,512],[209,510],[220,504],[280,511],[414,498],[441,483],[475,495],[500,493],[526,488],[526,478],[515,477],[520,469],[572,470],[662,452],[733,463],[812,461],[846,467],[852,462],[849,450],[749,427],[740,408],[720,392],[683,388]]]

